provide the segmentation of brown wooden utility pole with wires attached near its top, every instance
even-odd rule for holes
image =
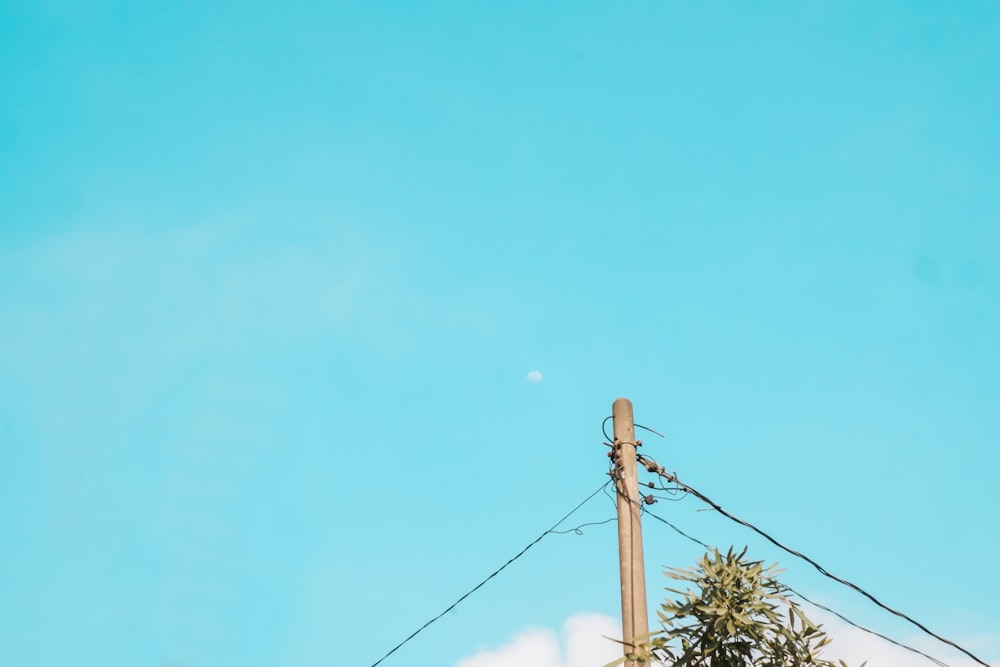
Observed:
[[[642,562],[642,496],[639,495],[639,478],[635,471],[637,441],[632,402],[619,398],[611,406],[614,418],[616,479],[618,493],[618,559],[622,582],[622,633],[629,652],[628,642],[642,638],[649,632],[646,618],[646,570]],[[625,667],[634,667],[626,661]]]

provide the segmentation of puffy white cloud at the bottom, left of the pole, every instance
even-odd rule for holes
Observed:
[[[577,614],[562,628],[562,643],[547,628],[527,629],[497,649],[483,649],[455,667],[601,667],[621,655],[621,647],[606,637],[621,628],[601,614]]]

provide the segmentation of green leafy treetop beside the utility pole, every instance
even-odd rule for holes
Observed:
[[[627,659],[673,667],[847,667],[820,657],[830,640],[785,595],[776,566],[745,556],[746,549],[713,549],[697,567],[667,570],[687,586],[667,588],[679,597],[660,605],[662,629],[628,643]]]

